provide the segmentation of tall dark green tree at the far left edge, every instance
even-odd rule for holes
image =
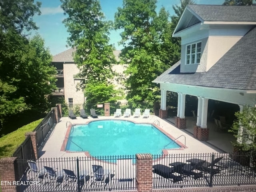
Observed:
[[[36,30],[32,17],[40,14],[40,2],[31,0],[0,1],[0,121],[6,116],[28,109],[25,97],[18,91],[17,76],[28,40],[26,33]],[[21,69],[22,70],[22,69]],[[21,72],[20,72],[21,73]],[[0,122],[0,128],[1,128]]]

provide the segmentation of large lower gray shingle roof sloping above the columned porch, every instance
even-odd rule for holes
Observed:
[[[180,61],[153,82],[215,88],[256,90],[256,27],[244,35],[207,72],[181,74]]]

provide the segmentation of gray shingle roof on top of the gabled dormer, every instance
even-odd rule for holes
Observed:
[[[188,5],[204,21],[256,22],[256,6]]]

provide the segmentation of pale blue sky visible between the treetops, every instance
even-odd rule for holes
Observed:
[[[67,50],[67,38],[69,36],[62,20],[65,18],[64,12],[60,7],[60,0],[35,0],[42,2],[40,8],[41,15],[34,16],[39,30],[37,31],[44,38],[46,47],[50,48],[52,55]],[[222,4],[224,0],[194,0],[196,4]],[[117,7],[122,7],[122,0],[100,0],[102,12],[104,12],[107,20],[114,20],[114,14]],[[158,0],[156,12],[159,12],[161,6],[169,11],[170,15],[174,15],[172,5],[180,5],[180,0]],[[122,49],[118,46],[120,41],[120,31],[112,31],[110,33],[110,44],[114,44],[117,50]]]

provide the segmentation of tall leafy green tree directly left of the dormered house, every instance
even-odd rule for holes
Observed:
[[[185,5],[191,1],[181,2]],[[123,0],[115,14],[115,28],[124,30],[121,56],[128,64],[127,99],[133,105],[159,100],[159,89],[152,81],[180,58],[180,40],[174,40],[171,34],[184,7],[176,11],[178,17],[172,17],[175,26],[164,8],[159,14],[155,9],[156,0]]]

